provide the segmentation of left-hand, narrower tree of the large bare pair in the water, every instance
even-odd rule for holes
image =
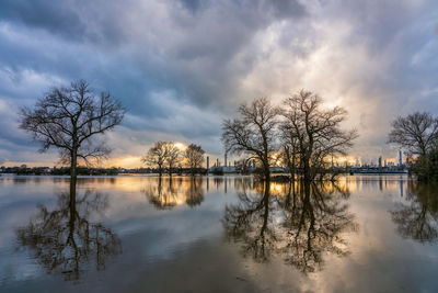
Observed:
[[[231,154],[249,154],[263,167],[265,179],[270,177],[269,161],[276,149],[276,125],[279,110],[269,100],[261,98],[242,104],[241,117],[224,120],[222,142]]]

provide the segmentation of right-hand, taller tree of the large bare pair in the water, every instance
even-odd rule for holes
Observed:
[[[346,111],[341,106],[322,109],[322,99],[301,90],[284,101],[284,132],[298,139],[298,154],[304,179],[313,180],[326,168],[326,158],[345,155],[357,137],[355,129],[344,131],[341,123]],[[295,143],[293,146],[295,148]]]

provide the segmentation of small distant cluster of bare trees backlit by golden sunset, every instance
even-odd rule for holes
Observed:
[[[183,166],[194,176],[203,167],[204,154],[204,149],[195,144],[183,147],[178,143],[157,142],[141,161],[148,167],[157,168],[160,176],[164,169],[171,176],[176,167],[181,169]]]

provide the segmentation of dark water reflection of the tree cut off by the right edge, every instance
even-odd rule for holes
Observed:
[[[399,234],[422,244],[438,239],[438,184],[408,181],[406,200],[391,211]]]

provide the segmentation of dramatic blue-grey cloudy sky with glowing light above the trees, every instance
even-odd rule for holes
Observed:
[[[438,114],[436,0],[1,0],[0,164],[51,166],[18,111],[84,78],[128,110],[111,165],[140,166],[158,139],[221,156],[235,106],[301,88],[349,112],[353,156],[395,157],[390,122]]]

